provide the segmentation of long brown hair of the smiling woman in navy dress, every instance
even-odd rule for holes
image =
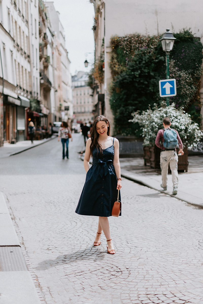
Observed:
[[[92,155],[92,152],[93,152],[93,149],[94,147],[97,148],[97,156],[98,156],[98,152],[100,151],[100,156],[102,155],[102,147],[100,146],[100,144],[98,143],[98,139],[99,139],[99,133],[97,133],[96,131],[96,124],[99,122],[99,121],[105,121],[105,123],[109,124],[109,121],[108,119],[103,116],[103,115],[100,115],[100,116],[97,116],[93,122],[93,126],[92,126],[92,132],[91,132],[91,144],[90,144],[90,154]],[[109,124],[109,127],[108,127],[108,130],[107,130],[107,135],[110,136],[110,124]]]

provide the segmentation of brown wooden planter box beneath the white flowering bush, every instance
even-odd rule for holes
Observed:
[[[160,153],[161,149],[156,146],[144,147],[144,164],[149,165],[153,169],[160,169]],[[178,154],[179,149],[177,149]],[[178,156],[178,171],[187,172],[188,167],[188,150],[187,146],[183,149],[184,155]],[[170,172],[170,166],[169,166]]]

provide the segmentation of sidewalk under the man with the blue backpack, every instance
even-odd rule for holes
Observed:
[[[172,195],[171,174],[168,175],[167,191],[161,188],[161,170],[144,166],[142,157],[120,158],[121,176],[149,188],[174,196],[184,202],[203,207],[203,155],[188,156],[188,172],[180,172],[177,195]]]

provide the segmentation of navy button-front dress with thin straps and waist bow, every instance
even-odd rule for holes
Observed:
[[[114,202],[117,200],[117,177],[113,165],[113,145],[100,151],[97,156],[93,149],[92,167],[87,171],[85,185],[82,189],[76,213],[92,216],[111,216]],[[119,200],[121,200],[119,192]],[[120,214],[121,215],[121,214]]]

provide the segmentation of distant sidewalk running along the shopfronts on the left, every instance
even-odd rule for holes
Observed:
[[[28,149],[31,149],[33,147],[46,143],[47,141],[52,140],[54,138],[56,138],[56,136],[52,135],[51,138],[45,138],[42,140],[34,140],[33,143],[31,143],[30,140],[18,141],[17,143],[14,143],[14,144],[4,143],[4,145],[2,147],[0,147],[0,158],[5,158],[5,157],[9,157],[14,154],[18,154],[20,152],[26,151]]]

